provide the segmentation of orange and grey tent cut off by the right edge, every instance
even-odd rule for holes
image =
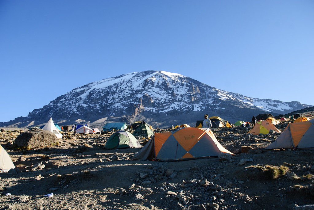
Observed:
[[[289,123],[284,132],[265,150],[296,147],[314,148],[314,119]]]

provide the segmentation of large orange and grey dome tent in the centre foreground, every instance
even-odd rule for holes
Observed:
[[[219,144],[210,129],[180,128],[172,132],[155,133],[132,158],[176,161],[217,157],[221,153],[234,155]]]

